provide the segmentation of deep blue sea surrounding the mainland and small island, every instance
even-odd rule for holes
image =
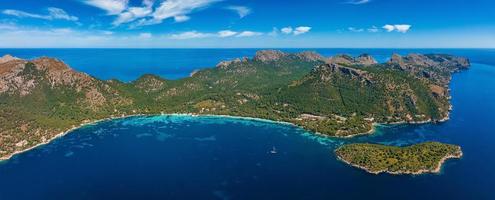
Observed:
[[[330,56],[369,53],[467,56],[454,75],[451,120],[380,126],[329,139],[289,125],[220,117],[150,116],[101,122],[0,162],[0,199],[495,199],[495,50],[314,49]],[[256,49],[0,49],[31,59],[57,57],[92,76],[168,79]],[[297,52],[301,49],[286,49]],[[460,145],[464,157],[440,174],[372,175],[336,160],[345,143]],[[269,153],[275,147],[277,154]]]

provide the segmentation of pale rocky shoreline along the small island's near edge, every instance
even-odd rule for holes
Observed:
[[[379,175],[381,173],[386,173],[386,174],[390,174],[390,175],[423,175],[423,174],[438,174],[438,173],[440,173],[442,171],[443,165],[445,164],[445,162],[447,160],[449,160],[449,159],[460,159],[460,158],[462,158],[462,156],[464,155],[464,153],[462,152],[462,149],[459,147],[459,152],[458,152],[457,155],[456,154],[448,154],[448,155],[442,157],[442,159],[440,159],[440,161],[438,162],[438,164],[435,167],[435,169],[433,169],[433,170],[431,170],[431,169],[421,169],[421,170],[418,170],[418,171],[387,171],[387,170],[371,171],[371,170],[369,170],[366,167],[363,167],[363,166],[360,166],[360,165],[356,165],[356,164],[353,164],[353,163],[351,163],[351,162],[349,162],[347,160],[344,160],[337,153],[335,153],[335,155],[337,157],[337,160],[340,160],[341,162],[344,162],[345,164],[347,164],[349,166],[352,166],[352,167],[355,167],[355,168],[358,168],[358,169],[362,169],[362,170],[366,171],[367,173],[374,174],[374,175]]]

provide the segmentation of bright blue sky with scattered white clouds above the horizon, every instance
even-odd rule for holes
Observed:
[[[0,47],[495,48],[495,1],[2,0]]]

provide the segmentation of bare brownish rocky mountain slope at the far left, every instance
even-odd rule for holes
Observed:
[[[105,103],[102,92],[107,85],[81,72],[76,72],[60,60],[42,57],[31,61],[12,56],[2,57],[0,63],[0,94],[26,96],[40,85],[51,89],[69,87],[83,92],[86,102],[97,107]],[[106,91],[110,92],[110,91]]]

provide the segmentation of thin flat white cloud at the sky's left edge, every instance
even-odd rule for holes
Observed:
[[[40,15],[40,14],[34,14],[34,13],[28,13],[24,12],[21,10],[3,10],[2,13],[5,15],[11,15],[15,17],[20,17],[20,18],[36,18],[36,19],[44,19],[44,20],[55,20],[55,19],[60,19],[60,20],[67,20],[67,21],[77,21],[79,20],[75,16],[71,16],[67,14],[64,10],[60,8],[55,8],[55,7],[49,7],[47,8],[48,14],[47,15]]]

